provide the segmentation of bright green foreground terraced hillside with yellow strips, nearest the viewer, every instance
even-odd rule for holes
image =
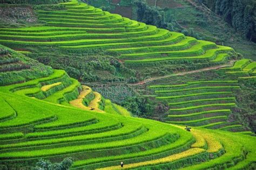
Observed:
[[[121,161],[133,169],[255,168],[256,140],[245,138],[248,132],[186,132],[120,115],[122,108],[104,102],[90,87],[81,89],[62,70],[12,83],[0,87],[0,168],[30,169],[39,158],[65,157],[74,159],[72,169],[119,169]]]

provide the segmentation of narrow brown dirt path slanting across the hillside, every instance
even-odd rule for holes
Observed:
[[[221,69],[223,67],[232,66],[234,64],[234,62],[235,62],[235,60],[232,60],[229,63],[224,64],[224,65],[217,65],[217,66],[207,67],[207,68],[199,69],[199,70],[174,73],[174,74],[170,74],[170,75],[166,75],[166,76],[152,77],[152,78],[140,81],[139,83],[131,84],[131,85],[143,85],[145,83],[149,83],[150,81],[159,80],[159,79],[163,79],[163,78],[168,78],[168,77],[173,77],[173,76],[183,76],[183,75],[186,75],[186,74],[198,73],[198,72],[203,72],[203,71],[208,71],[208,70],[217,70],[217,69]]]

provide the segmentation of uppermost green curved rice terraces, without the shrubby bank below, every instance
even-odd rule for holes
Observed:
[[[77,0],[63,5],[66,10],[36,11],[46,22],[43,26],[0,29],[0,43],[27,51],[42,45],[72,53],[101,49],[131,67],[184,61],[211,65],[232,57],[230,47],[158,29]]]

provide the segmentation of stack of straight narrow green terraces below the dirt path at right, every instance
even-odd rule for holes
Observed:
[[[150,88],[157,94],[156,100],[166,101],[169,105],[166,123],[226,131],[246,130],[228,119],[236,107],[233,92],[240,89],[237,80],[191,81]]]

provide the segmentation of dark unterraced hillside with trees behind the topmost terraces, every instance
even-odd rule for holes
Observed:
[[[118,13],[135,20],[139,18],[136,12],[137,5],[133,4],[133,2],[136,1],[133,0],[109,1],[109,3],[107,1],[89,0],[88,2],[98,8],[103,8],[107,11]],[[210,40],[218,45],[224,43],[224,45],[231,46],[235,51],[241,53],[246,58],[255,60],[256,53],[254,49],[256,48],[256,44],[250,41],[251,38],[246,39],[245,35],[242,34],[244,31],[253,29],[254,21],[251,21],[251,19],[253,20],[255,15],[246,13],[253,13],[253,11],[255,11],[255,4],[253,5],[251,1],[242,1],[241,3],[239,3],[240,1],[232,1],[235,2],[234,4],[247,4],[245,10],[244,5],[242,5],[242,9],[241,6],[237,5],[237,7],[240,8],[240,13],[239,15],[237,13],[235,16],[235,12],[233,12],[235,10],[232,9],[233,5],[230,1],[146,0],[145,2],[150,8],[155,9],[155,5],[157,8],[160,8],[158,10],[160,11],[160,15],[164,14],[165,22],[167,23],[166,28],[176,32],[183,32],[192,37]],[[205,5],[200,2],[203,2]],[[215,10],[216,3],[218,6],[217,10]],[[208,5],[208,8],[212,11],[208,9],[206,5]],[[145,6],[142,10],[145,10]],[[217,12],[218,15],[213,11]],[[145,21],[152,22],[150,18],[152,17],[153,11],[145,12],[144,15],[149,15],[144,18]],[[243,12],[246,14],[244,15]],[[140,12],[140,15],[142,13],[143,12]],[[231,16],[234,18],[233,24],[239,28],[238,31],[232,27]],[[237,24],[238,22],[239,24]],[[156,24],[158,23],[156,22]]]

